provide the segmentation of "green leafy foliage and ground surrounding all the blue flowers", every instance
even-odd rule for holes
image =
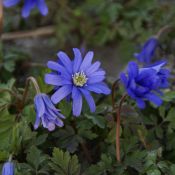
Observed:
[[[122,109],[121,158],[115,157],[115,114],[111,97],[95,97],[97,110],[83,109],[73,118],[66,101],[59,104],[65,126],[48,132],[34,131],[34,90],[30,89],[21,112],[18,103],[25,78],[37,77],[42,92],[50,92],[43,76],[48,58],[72,47],[94,50],[112,84],[133,59],[133,53],[165,26],[172,29],[160,38],[158,57],[169,61],[174,77],[175,2],[173,0],[46,0],[49,14],[32,11],[20,16],[21,6],[4,9],[4,34],[51,26],[51,36],[5,40],[0,59],[0,163],[13,154],[17,175],[175,175],[175,87],[165,92],[160,108],[138,110],[129,98]],[[117,90],[116,103],[123,94]],[[86,105],[86,104],[85,104]]]

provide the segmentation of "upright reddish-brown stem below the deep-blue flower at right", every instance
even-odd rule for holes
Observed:
[[[120,162],[120,113],[122,109],[122,104],[125,101],[127,94],[124,94],[120,99],[119,107],[116,112],[116,158],[117,161]]]

